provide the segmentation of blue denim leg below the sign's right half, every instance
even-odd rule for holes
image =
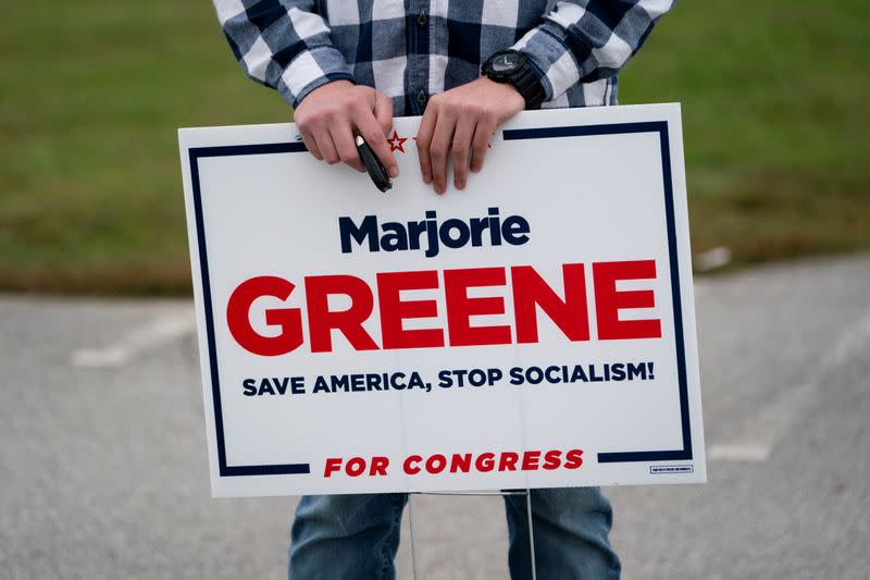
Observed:
[[[513,580],[532,578],[525,495],[506,495],[508,565]],[[610,502],[598,488],[532,490],[532,521],[538,580],[619,578],[622,566],[610,547]]]

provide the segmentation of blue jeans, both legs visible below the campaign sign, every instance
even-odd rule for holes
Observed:
[[[290,532],[290,580],[393,580],[408,495],[307,495]],[[506,495],[508,565],[513,580],[532,578],[524,495]],[[532,490],[539,580],[619,578],[610,547],[610,502],[598,488]]]

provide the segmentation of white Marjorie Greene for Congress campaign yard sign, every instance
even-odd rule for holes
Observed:
[[[463,192],[179,132],[212,492],[706,480],[678,104],[523,112]]]

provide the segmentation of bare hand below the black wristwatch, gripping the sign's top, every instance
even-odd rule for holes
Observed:
[[[426,107],[417,150],[423,181],[435,184],[435,193],[447,189],[447,153],[452,152],[453,185],[464,189],[469,169],[483,168],[489,139],[496,128],[525,109],[525,99],[512,85],[481,77],[435,95]]]

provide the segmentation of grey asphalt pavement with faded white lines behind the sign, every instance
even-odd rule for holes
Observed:
[[[696,296],[709,483],[607,490],[624,578],[870,578],[870,255]],[[210,497],[189,301],[0,297],[0,578],[286,578],[296,499]],[[413,509],[420,580],[507,578],[499,497]]]

